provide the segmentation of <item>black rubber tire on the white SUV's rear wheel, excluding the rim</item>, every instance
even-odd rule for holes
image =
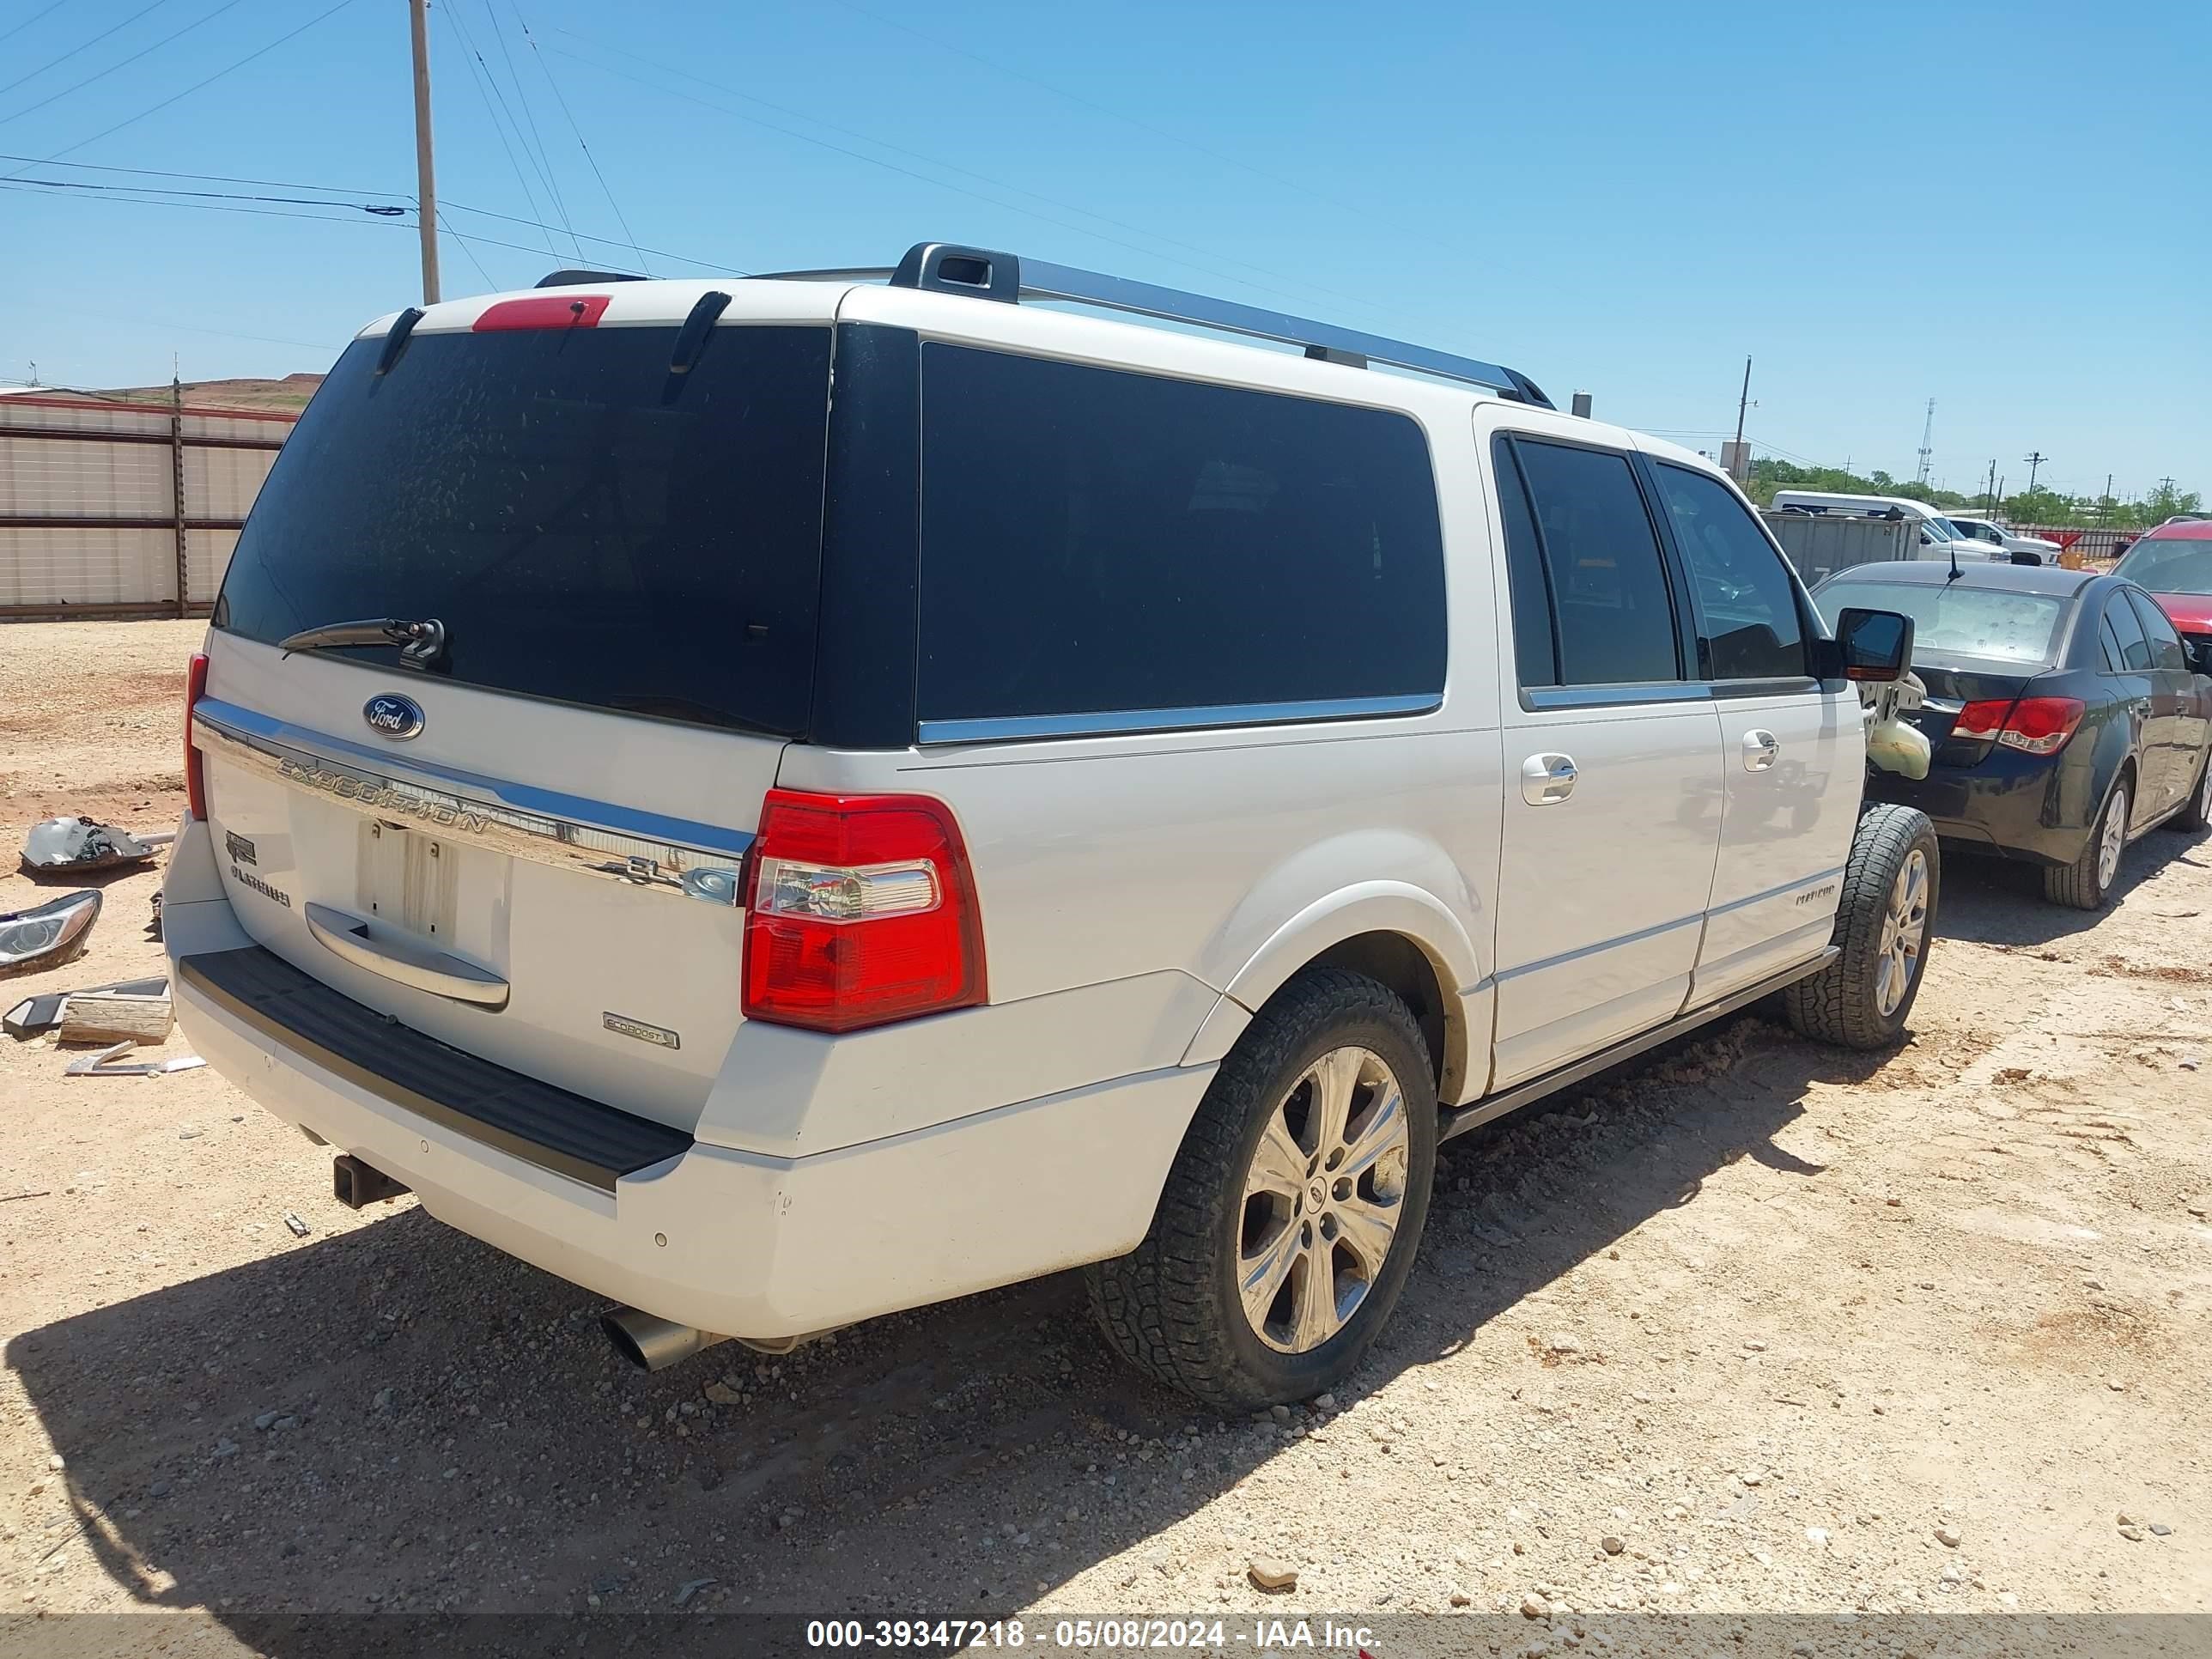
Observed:
[[[1256,1203],[1245,1197],[1245,1177],[1263,1130],[1287,1110],[1307,1071],[1347,1046],[1380,1057],[1405,1099],[1398,1223],[1352,1318],[1318,1347],[1287,1354],[1261,1340],[1239,1296],[1241,1241]],[[1343,1383],[1389,1321],[1420,1248],[1433,1175],[1436,1073],[1411,1011],[1363,973],[1305,969],[1252,1018],[1214,1073],[1144,1243],[1084,1270],[1091,1307],[1139,1369],[1219,1411],[1307,1400]],[[1329,1250],[1334,1261],[1336,1245]]]

